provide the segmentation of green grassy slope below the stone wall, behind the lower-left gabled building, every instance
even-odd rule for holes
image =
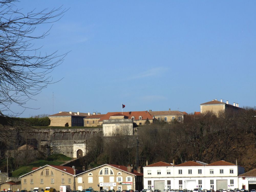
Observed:
[[[16,169],[15,171],[12,172],[12,176],[19,177],[26,173],[29,173],[29,172],[31,172],[33,167],[40,167],[40,166],[44,166],[44,165],[61,165],[65,161],[69,161],[71,159],[72,158],[67,157],[63,154],[52,154],[49,157],[47,157],[47,160],[34,161],[27,166],[23,166],[23,167]]]

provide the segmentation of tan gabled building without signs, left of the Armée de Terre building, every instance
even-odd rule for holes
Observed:
[[[57,191],[60,190],[61,185],[70,185],[71,189],[75,189],[74,176],[80,171],[67,167],[57,165],[45,165],[42,167],[33,168],[33,170],[21,178],[21,189],[32,191],[35,187],[53,187]]]

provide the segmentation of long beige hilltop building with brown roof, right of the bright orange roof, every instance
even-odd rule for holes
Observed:
[[[155,120],[164,120],[166,122],[171,122],[173,120],[177,120],[179,122],[183,122],[184,121],[184,115],[187,115],[186,112],[181,112],[181,111],[171,111],[169,109],[169,111],[152,111],[149,110],[149,113],[152,115],[152,117]]]

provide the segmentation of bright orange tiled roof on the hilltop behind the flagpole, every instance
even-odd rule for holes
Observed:
[[[122,116],[127,116],[128,119],[132,119],[132,117],[134,117],[134,120],[139,120],[139,117],[142,117],[142,120],[146,120],[148,118],[148,120],[153,120],[153,117],[151,116],[151,114],[147,111],[130,111],[130,112],[108,112],[107,114],[105,114],[103,117],[100,118],[99,121],[103,121],[103,120],[109,120],[110,116],[114,116],[115,114],[121,114]],[[121,116],[119,115],[119,116]]]

